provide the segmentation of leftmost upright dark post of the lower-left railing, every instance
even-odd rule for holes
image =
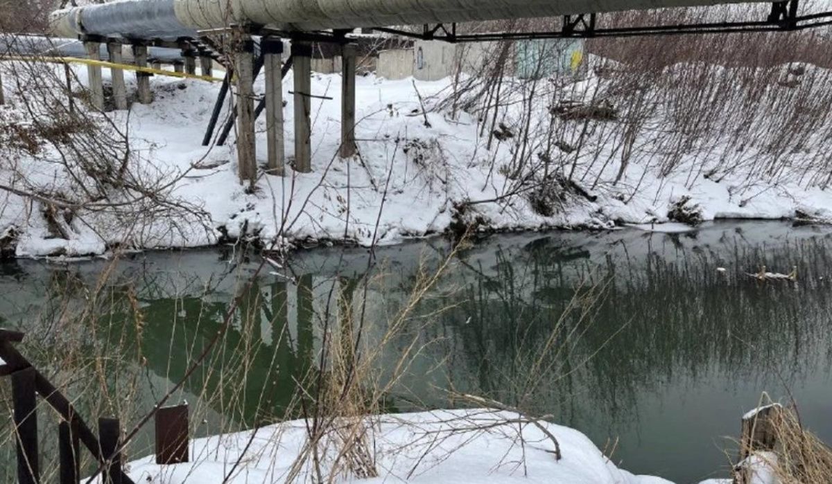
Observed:
[[[40,482],[40,462],[37,457],[37,393],[35,368],[23,368],[12,373],[14,427],[17,436],[17,482]]]

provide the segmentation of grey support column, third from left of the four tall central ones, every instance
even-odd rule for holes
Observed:
[[[312,171],[312,45],[292,42],[293,70],[295,71],[295,170]]]

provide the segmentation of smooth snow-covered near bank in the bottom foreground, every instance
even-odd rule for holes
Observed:
[[[423,482],[431,484],[590,483],[661,484],[659,477],[634,476],[616,467],[581,432],[544,424],[557,437],[562,459],[553,455],[549,437],[518,415],[488,410],[437,411],[368,418],[378,477],[359,482]],[[307,442],[305,422],[285,422],[191,443],[191,461],[157,466],[154,457],[129,465],[135,482],[153,484],[266,484],[285,482]],[[325,443],[322,444],[325,446]],[[324,472],[338,452],[330,447],[322,460]],[[234,468],[234,463],[240,465]],[[232,472],[233,469],[233,472]],[[312,482],[305,465],[295,482]],[[352,481],[343,476],[344,481]],[[340,480],[339,480],[340,481]]]

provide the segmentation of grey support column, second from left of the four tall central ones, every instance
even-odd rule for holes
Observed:
[[[260,42],[265,70],[265,122],[269,145],[269,172],[285,175],[283,137],[283,41],[265,37]]]

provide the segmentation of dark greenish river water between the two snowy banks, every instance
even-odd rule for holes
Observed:
[[[551,415],[614,448],[627,470],[675,482],[727,476],[726,437],[764,391],[793,397],[832,442],[830,249],[829,228],[776,222],[489,238],[453,259],[384,346],[381,380],[405,348],[421,348],[385,410],[452,406],[453,386]],[[447,254],[442,240],[379,249],[368,273],[364,249],[317,249],[281,269],[293,281],[267,269],[250,285],[259,259],[230,249],[136,255],[104,283],[106,261],[19,261],[0,265],[0,317],[30,334],[27,354],[79,403],[106,388],[121,397],[103,407],[135,418],[181,379],[236,298],[232,330],[176,393],[204,434],[285,417],[296,382],[319,366],[324,328],[363,313],[362,348],[379,348],[419,274]],[[745,275],[760,264],[796,265],[800,280]],[[94,323],[77,328],[91,307]],[[147,453],[141,442],[131,457]]]

